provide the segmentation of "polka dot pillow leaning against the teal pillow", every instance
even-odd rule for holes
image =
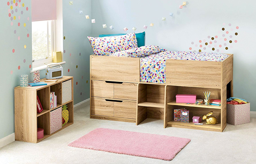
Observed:
[[[135,33],[101,38],[88,37],[88,39],[94,55],[109,56],[114,52],[138,47]]]

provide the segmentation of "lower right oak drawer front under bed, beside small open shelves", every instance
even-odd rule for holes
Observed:
[[[136,102],[114,102],[114,116],[136,119]]]

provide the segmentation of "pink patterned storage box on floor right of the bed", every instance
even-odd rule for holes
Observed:
[[[232,125],[250,122],[250,103],[233,105],[227,104],[227,123]]]

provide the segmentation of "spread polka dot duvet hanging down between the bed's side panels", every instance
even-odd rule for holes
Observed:
[[[227,54],[212,52],[164,51],[140,58],[140,82],[166,83],[166,59],[223,61]]]

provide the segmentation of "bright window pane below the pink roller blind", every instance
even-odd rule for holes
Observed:
[[[33,67],[53,61],[54,21],[32,22]]]

